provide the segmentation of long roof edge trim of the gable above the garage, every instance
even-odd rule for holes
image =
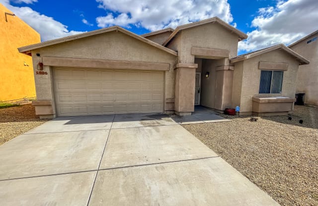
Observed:
[[[172,54],[174,56],[177,56],[177,53],[175,51],[172,51],[166,47],[163,47],[153,41],[150,41],[144,37],[141,37],[135,33],[132,33],[126,29],[123,29],[119,26],[112,26],[112,27],[108,27],[108,28],[104,28],[104,29],[98,29],[98,30],[94,30],[94,31],[90,31],[90,32],[84,32],[84,33],[80,33],[80,34],[76,34],[76,35],[72,35],[72,36],[67,36],[67,37],[63,37],[63,38],[59,38],[59,39],[54,39],[54,40],[50,40],[50,41],[46,41],[46,42],[42,42],[42,43],[38,43],[38,44],[32,44],[29,46],[25,46],[25,47],[20,47],[18,48],[18,51],[20,53],[24,53],[24,54],[28,54],[31,52],[31,50],[35,50],[35,49],[39,49],[39,48],[43,48],[43,47],[48,47],[51,45],[56,45],[56,44],[61,44],[64,42],[69,42],[69,41],[73,41],[73,40],[77,40],[77,39],[81,39],[81,38],[85,38],[85,37],[89,37],[89,36],[94,36],[94,35],[98,35],[98,34],[103,34],[103,33],[107,33],[110,31],[120,31],[124,34],[127,34],[135,39],[138,39],[142,42],[145,42],[147,44],[150,44],[154,47],[157,47],[160,50],[163,50],[169,54]]]

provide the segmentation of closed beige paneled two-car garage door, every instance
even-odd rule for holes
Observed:
[[[163,71],[53,70],[59,117],[163,112]]]

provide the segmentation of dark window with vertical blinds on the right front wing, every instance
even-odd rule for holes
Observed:
[[[283,71],[261,70],[259,93],[280,94],[283,85]]]

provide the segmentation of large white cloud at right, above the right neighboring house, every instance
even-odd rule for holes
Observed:
[[[260,8],[251,22],[255,30],[239,42],[239,51],[293,43],[318,29],[317,11],[317,0],[278,1],[275,6]]]

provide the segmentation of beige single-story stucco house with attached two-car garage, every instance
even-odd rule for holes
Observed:
[[[33,58],[40,118],[189,115],[195,105],[291,112],[298,67],[309,61],[284,45],[237,57],[246,38],[214,17],[142,36],[113,26],[19,51]]]

